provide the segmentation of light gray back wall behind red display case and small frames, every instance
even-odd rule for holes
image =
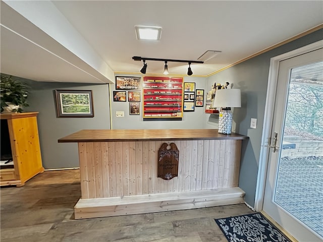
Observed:
[[[116,75],[129,76],[129,75]],[[140,77],[140,75],[131,75]],[[195,89],[204,89],[206,78],[204,77],[184,77],[184,82],[195,82]],[[111,96],[115,91],[115,85],[111,85]],[[207,90],[209,91],[209,90]],[[142,97],[142,89],[140,90]],[[127,94],[128,95],[128,94]],[[205,119],[209,114],[205,111],[205,102],[203,107],[195,107],[194,112],[184,112],[181,121],[143,121],[142,118],[142,100],[140,103],[140,115],[129,115],[129,102],[114,102],[112,100],[112,129],[205,129]],[[125,117],[116,117],[116,111],[124,111]]]

